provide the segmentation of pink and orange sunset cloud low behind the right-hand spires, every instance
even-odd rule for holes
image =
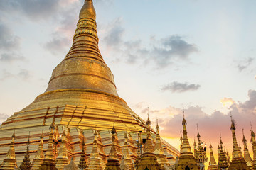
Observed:
[[[223,102],[233,101],[232,98],[223,98]],[[238,142],[242,143],[242,128],[245,129],[245,137],[250,139],[250,122],[252,125],[256,123],[256,91],[248,91],[247,101],[233,101],[230,106],[230,112],[236,120],[236,136]],[[183,113],[182,108],[168,106],[163,109],[152,111],[149,114],[151,121],[156,117],[159,119],[160,133],[162,137],[179,138],[182,130]],[[142,115],[143,116],[143,115]],[[208,143],[211,140],[213,147],[217,147],[220,133],[222,134],[225,146],[232,150],[232,137],[230,132],[230,113],[215,111],[211,114],[205,113],[201,106],[188,106],[185,109],[185,118],[187,121],[188,137],[190,142],[193,141],[193,136],[196,136],[196,124],[198,123],[201,140]],[[153,123],[155,121],[152,121]],[[153,126],[154,127],[154,126]],[[256,127],[256,125],[254,125]],[[255,129],[256,130],[256,129]]]

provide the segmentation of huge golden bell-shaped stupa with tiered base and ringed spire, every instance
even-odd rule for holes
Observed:
[[[117,94],[113,74],[100,54],[95,20],[92,0],[85,0],[73,45],[64,60],[53,70],[46,91],[2,123],[0,162],[6,157],[13,141],[16,162],[21,164],[29,132],[31,159],[34,159],[38,148],[42,146],[46,153],[51,127],[54,129],[51,137],[55,159],[58,159],[60,149],[63,152],[65,146],[68,162],[73,157],[78,163],[82,153],[82,139],[85,139],[86,155],[89,157],[93,145],[96,146],[94,148],[98,149],[104,167],[112,143],[110,130],[113,125],[117,130],[119,159],[126,148],[132,162],[135,161],[137,134],[142,131],[142,138],[146,137],[146,123]],[[11,137],[14,132],[15,142],[14,137]],[[63,134],[65,142],[60,145]],[[156,132],[153,129],[151,135],[155,139]],[[173,164],[179,154],[178,150],[164,140],[161,142],[164,154]],[[125,143],[127,147],[124,147]]]

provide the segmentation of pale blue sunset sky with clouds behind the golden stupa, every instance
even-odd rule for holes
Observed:
[[[0,1],[0,122],[48,85],[72,45],[83,0]],[[256,130],[256,1],[94,0],[102,57],[117,92],[179,148],[188,137],[232,152],[230,113],[250,144]]]

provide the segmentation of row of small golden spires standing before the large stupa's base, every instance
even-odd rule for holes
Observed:
[[[63,128],[63,135],[60,145],[60,150],[58,152],[58,157],[55,158],[53,154],[53,130],[55,129],[55,120],[53,118],[53,123],[50,125],[50,134],[48,140],[48,148],[46,150],[46,155],[43,154],[43,132],[41,134],[41,140],[38,146],[38,152],[36,154],[35,159],[31,164],[30,156],[29,156],[29,144],[30,144],[30,135],[28,135],[28,142],[26,147],[25,156],[23,162],[17,168],[16,165],[16,158],[15,158],[15,150],[14,150],[14,139],[15,139],[15,131],[12,135],[11,145],[9,147],[9,151],[6,154],[6,158],[4,159],[3,163],[1,164],[0,169],[21,169],[21,170],[30,170],[30,169],[70,169],[70,168],[79,168],[79,169],[102,169],[102,164],[100,163],[100,155],[97,149],[97,130],[94,132],[94,141],[92,145],[92,153],[90,154],[89,162],[86,162],[86,154],[85,154],[85,138],[82,139],[82,148],[81,148],[81,155],[80,161],[78,166],[75,165],[73,162],[73,158],[71,159],[70,164],[68,165],[68,156],[67,150],[65,147],[65,128]],[[159,125],[156,125],[156,144],[153,146],[151,141],[151,122],[148,118],[146,121],[146,141],[144,144],[144,153],[142,154],[142,137],[141,132],[138,135],[138,153],[137,159],[135,160],[134,164],[132,163],[132,159],[129,156],[129,150],[127,145],[127,133],[124,135],[124,152],[121,159],[121,164],[119,164],[119,159],[117,157],[117,149],[116,149],[116,141],[117,141],[117,131],[115,130],[114,126],[111,130],[112,133],[112,147],[110,149],[110,154],[107,159],[107,164],[105,169],[109,169],[111,166],[116,166],[117,169],[143,169],[144,166],[157,166],[156,169],[168,169],[167,166],[170,166],[166,155],[164,154],[164,149],[161,146],[161,140],[159,135]],[[144,157],[151,157],[152,165],[149,165],[148,162],[143,161]],[[165,166],[165,168],[164,168]]]

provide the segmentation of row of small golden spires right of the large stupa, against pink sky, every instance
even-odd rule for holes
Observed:
[[[187,137],[187,132],[186,132],[186,120],[183,115],[183,137],[181,136],[181,155],[182,154],[187,154],[187,155],[192,155],[191,148],[188,143],[188,137]],[[220,136],[220,143],[218,144],[218,164],[215,161],[214,155],[213,155],[213,147],[210,143],[210,161],[209,161],[209,166],[208,169],[235,169],[238,168],[240,169],[241,167],[244,169],[256,169],[256,141],[255,141],[255,132],[252,130],[252,125],[251,125],[251,140],[252,142],[252,151],[253,151],[253,159],[250,157],[250,153],[247,148],[247,140],[245,139],[245,135],[242,129],[242,134],[243,134],[243,139],[242,142],[244,144],[244,155],[242,156],[242,151],[241,147],[238,146],[238,142],[235,137],[235,120],[233,117],[231,117],[231,127],[230,130],[232,131],[233,135],[233,157],[230,162],[230,156],[228,154],[228,151],[223,149],[223,142]],[[198,146],[196,146],[196,140],[194,139],[194,159],[198,164],[202,164],[204,167],[203,163],[207,162],[208,158],[206,157],[206,147],[203,148],[203,142],[201,142],[200,134],[198,132],[197,134],[198,137]],[[180,158],[181,159],[181,158]],[[180,160],[179,160],[180,161]],[[191,161],[191,164],[193,164],[193,161]],[[235,166],[240,166],[235,167]],[[204,168],[203,168],[204,169]]]

